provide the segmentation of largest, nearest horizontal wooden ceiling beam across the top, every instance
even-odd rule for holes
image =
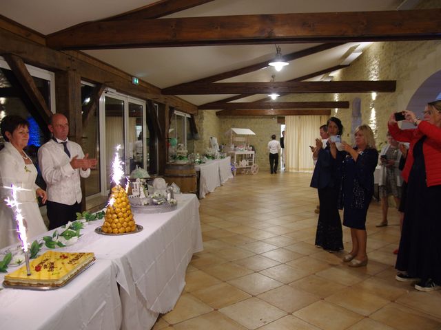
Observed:
[[[50,34],[57,50],[440,39],[441,9],[318,12],[83,23]]]

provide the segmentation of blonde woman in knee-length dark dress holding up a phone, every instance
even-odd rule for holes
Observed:
[[[366,215],[373,195],[373,172],[378,151],[369,126],[358,126],[354,135],[355,148],[342,142],[349,153],[342,166],[343,225],[351,228],[352,239],[352,250],[343,261],[350,262],[350,267],[361,267],[367,265]]]

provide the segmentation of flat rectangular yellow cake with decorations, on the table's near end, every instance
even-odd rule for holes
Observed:
[[[93,253],[48,251],[30,261],[30,275],[26,266],[5,276],[6,285],[24,287],[61,287],[95,260]]]

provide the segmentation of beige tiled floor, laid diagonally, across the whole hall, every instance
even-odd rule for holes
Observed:
[[[441,291],[395,280],[398,212],[367,219],[367,267],[314,246],[317,192],[310,173],[238,175],[201,200],[203,252],[158,329],[441,329]],[[344,228],[345,250],[350,250]]]

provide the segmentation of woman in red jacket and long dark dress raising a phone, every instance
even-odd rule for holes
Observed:
[[[396,279],[418,282],[420,291],[441,285],[441,100],[429,102],[424,118],[404,111],[416,129],[400,129],[393,115],[389,131],[399,141],[410,142],[402,176],[407,181],[407,203],[398,250]]]

